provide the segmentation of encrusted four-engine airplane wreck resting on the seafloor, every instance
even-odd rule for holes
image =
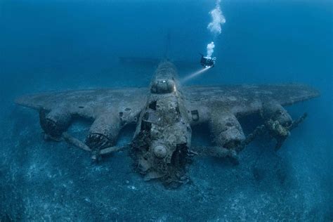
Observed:
[[[181,185],[188,181],[185,166],[192,156],[227,157],[237,163],[237,154],[262,133],[269,133],[277,142],[275,149],[280,148],[306,117],[293,121],[282,106],[317,96],[317,90],[300,84],[182,87],[176,67],[164,61],[149,88],[39,93],[16,103],[39,111],[47,138],[67,141],[96,161],[127,148],[145,180]],[[245,136],[237,118],[254,113],[264,124]],[[66,132],[74,117],[93,119],[85,142]],[[115,147],[119,131],[131,123],[136,124],[133,140],[124,148]],[[203,123],[209,124],[216,146],[193,148],[191,127]]]

